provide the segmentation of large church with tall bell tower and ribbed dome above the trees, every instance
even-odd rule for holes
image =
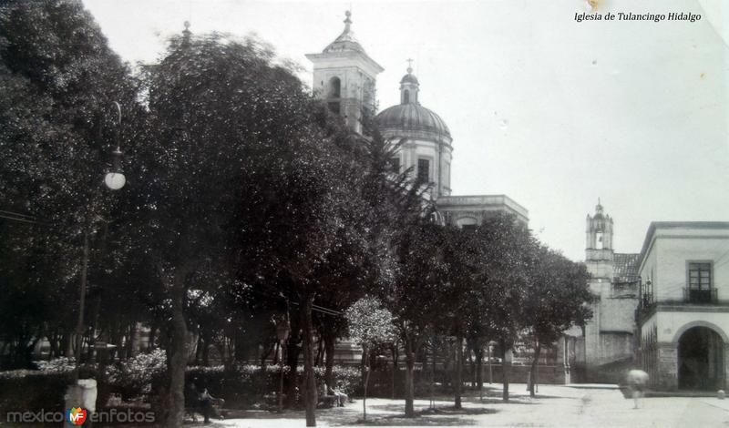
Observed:
[[[399,144],[393,165],[401,171],[413,168],[418,178],[432,183],[430,198],[447,224],[476,227],[488,215],[502,212],[527,225],[529,211],[506,195],[451,195],[454,139],[446,122],[420,104],[420,82],[412,67],[400,79],[400,104],[375,111],[376,77],[384,68],[354,37],[352,14],[345,15],[342,34],[321,53],[306,56],[313,63],[314,95],[358,133],[362,133],[364,112],[375,116],[383,137]]]

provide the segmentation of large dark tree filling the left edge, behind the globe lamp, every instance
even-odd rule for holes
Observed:
[[[27,351],[45,335],[56,353],[70,354],[77,313],[42,315],[41,307],[79,307],[85,236],[92,260],[90,293],[102,284],[116,285],[108,272],[117,271],[118,264],[102,270],[98,261],[105,250],[107,255],[118,250],[106,245],[102,225],[119,218],[115,208],[121,202],[101,188],[101,180],[116,135],[122,145],[136,139],[133,121],[121,127],[114,123],[112,102],[124,107],[126,117],[140,115],[137,84],[80,2],[49,0],[0,6],[0,87],[0,209],[21,214],[0,232],[0,245],[14,260],[0,267],[8,287],[0,292],[0,306],[16,304],[6,300],[12,290],[45,296],[27,311],[42,322],[26,313],[25,327],[6,319],[10,324],[2,330],[18,350]],[[25,225],[23,216],[29,216]],[[94,311],[87,313],[92,318]],[[13,331],[20,335],[12,337]],[[76,354],[80,358],[80,350]],[[29,352],[15,364],[27,366]]]

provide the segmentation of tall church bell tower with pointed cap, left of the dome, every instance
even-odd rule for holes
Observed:
[[[352,13],[344,14],[344,31],[321,54],[307,54],[313,63],[313,93],[354,131],[362,133],[362,115],[374,116],[376,77],[385,69],[354,38]]]

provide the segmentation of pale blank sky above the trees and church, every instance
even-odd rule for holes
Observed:
[[[551,248],[584,260],[598,198],[616,252],[640,252],[651,221],[729,221],[729,2],[598,0],[597,13],[701,14],[688,21],[582,21],[584,0],[84,0],[131,65],[169,36],[255,34],[303,66],[352,29],[399,102],[406,59],[420,102],[453,137],[454,195],[506,194]]]

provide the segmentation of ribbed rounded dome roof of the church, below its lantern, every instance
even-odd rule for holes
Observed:
[[[450,130],[446,122],[435,112],[419,104],[399,104],[385,108],[375,120],[382,129],[435,132],[450,138]]]

